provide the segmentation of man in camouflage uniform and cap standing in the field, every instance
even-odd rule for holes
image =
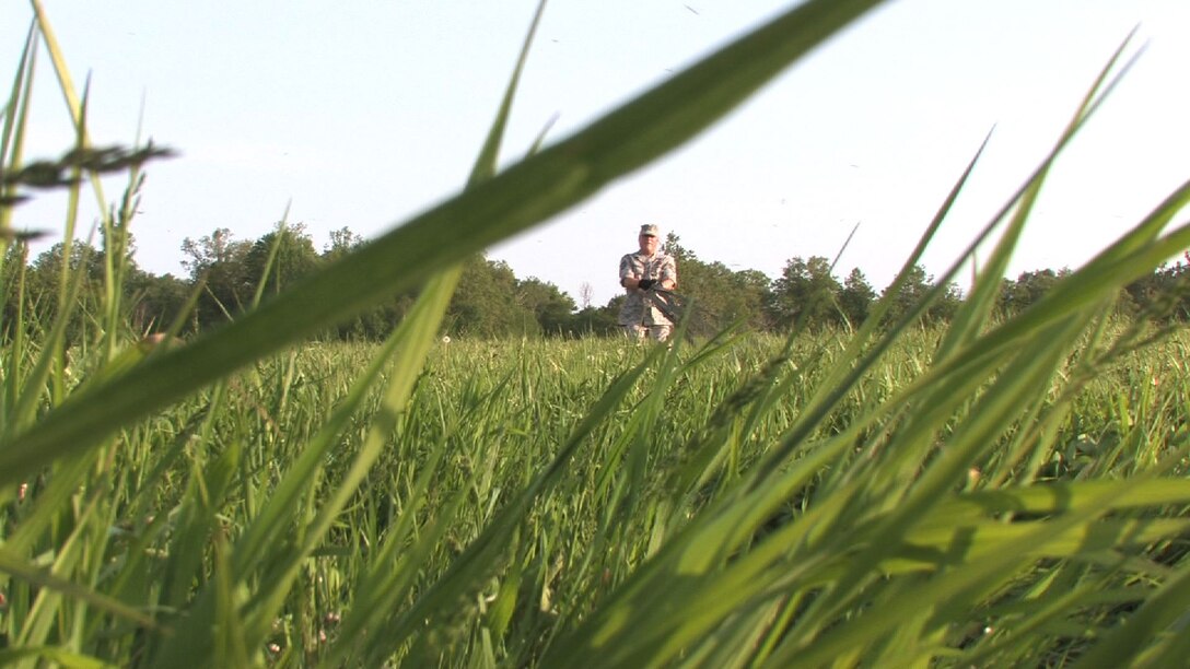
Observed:
[[[620,258],[620,286],[627,290],[620,308],[620,325],[631,339],[646,336],[664,342],[674,330],[670,320],[656,306],[652,289],[677,288],[677,264],[660,250],[660,231],[656,225],[641,225],[638,238],[640,250]]]

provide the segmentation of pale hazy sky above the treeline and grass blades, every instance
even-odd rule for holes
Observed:
[[[506,162],[557,115],[565,137],[795,4],[552,0],[530,55]],[[182,274],[183,238],[255,239],[289,206],[321,249],[371,237],[456,193],[475,160],[536,0],[44,0],[96,144],[144,137],[137,262]],[[11,77],[32,12],[0,8]],[[898,0],[804,58],[709,132],[570,212],[490,250],[576,300],[616,294],[639,225],[700,258],[777,276],[794,256],[891,280],[995,126],[973,183],[926,256],[940,274],[1057,139],[1129,30],[1147,50],[1058,163],[1013,273],[1077,267],[1190,177],[1186,0]],[[69,149],[48,58],[29,158]],[[8,79],[11,81],[11,79]],[[107,196],[123,182],[107,180]],[[92,200],[88,200],[90,202]],[[61,235],[64,198],[18,227]],[[95,218],[92,206],[81,223]],[[1184,217],[1183,217],[1184,218]],[[52,238],[49,240],[52,243]],[[681,268],[679,268],[681,271]]]

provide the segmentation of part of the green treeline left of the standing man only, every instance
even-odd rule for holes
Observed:
[[[67,325],[68,339],[77,339],[87,321],[98,321],[102,310],[108,308],[108,273],[119,277],[114,282],[120,287],[119,302],[134,333],[163,332],[181,321],[181,333],[193,334],[233,319],[257,299],[268,299],[364,243],[346,227],[332,232],[321,250],[315,249],[302,225],[278,225],[255,240],[237,239],[232,231],[217,229],[184,239],[186,275],[178,277],[140,269],[131,244],[121,257],[109,262],[105,244],[73,242],[68,248],[58,243],[29,257],[27,245],[18,240],[8,246],[0,276],[5,287],[2,323],[5,329],[17,323],[35,329],[48,326],[61,295],[71,289],[62,282],[63,264],[69,262],[73,277],[79,280],[75,304],[80,308],[73,311]],[[413,306],[416,293],[395,292],[383,305],[324,336],[382,339]],[[445,327],[452,336],[482,338],[577,336],[612,331],[615,315],[590,305],[578,310],[574,299],[553,283],[518,279],[507,263],[477,255],[466,261]]]

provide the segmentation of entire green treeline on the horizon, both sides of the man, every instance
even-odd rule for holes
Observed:
[[[182,333],[199,332],[236,317],[256,299],[284,289],[320,265],[343,257],[365,244],[344,227],[331,233],[330,242],[315,249],[301,225],[278,225],[255,240],[234,238],[227,229],[217,229],[182,244],[186,276],[157,276],[139,269],[129,245],[118,262],[108,262],[102,245],[75,242],[69,249],[70,267],[79,270],[79,304],[83,308],[68,324],[68,337],[83,331],[111,300],[105,299],[108,273],[118,275],[120,305],[137,333],[165,331],[175,321]],[[781,275],[770,279],[762,271],[732,270],[720,262],[707,262],[669,235],[664,249],[678,263],[679,293],[685,299],[690,327],[712,334],[743,323],[771,332],[794,327],[823,329],[858,326],[868,319],[877,300],[891,287],[877,290],[862,270],[852,269],[841,281],[827,258],[793,257]],[[57,244],[38,256],[27,257],[26,246],[13,244],[4,263],[6,327],[19,323],[48,324],[55,315],[62,285],[62,265],[68,255]],[[609,260],[609,267],[614,264]],[[1190,260],[1190,258],[1188,258]],[[1190,265],[1165,265],[1121,292],[1116,311],[1122,315],[1153,320],[1190,318]],[[1020,313],[1040,300],[1066,270],[1027,271],[1001,285],[998,305],[1003,315]],[[612,276],[612,270],[608,271]],[[921,265],[912,268],[895,295],[885,318],[898,319],[932,288],[935,281]],[[461,337],[578,337],[606,336],[618,331],[622,296],[608,304],[590,304],[589,287],[581,304],[557,286],[539,279],[518,279],[503,262],[482,255],[468,260],[458,289],[446,314],[447,334]],[[380,307],[340,324],[325,337],[376,340],[386,337],[416,299],[416,290],[394,293]],[[922,315],[922,324],[944,323],[962,305],[958,286],[950,285]]]

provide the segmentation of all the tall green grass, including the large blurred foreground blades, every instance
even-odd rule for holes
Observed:
[[[877,329],[881,305],[853,333],[672,349],[438,339],[466,254],[679,145],[872,5],[800,5],[496,174],[518,65],[462,194],[182,346],[137,345],[108,290],[67,348],[79,273],[63,268],[42,321],[4,268],[18,308],[0,350],[0,662],[1182,661],[1188,339],[1116,321],[1110,304],[1190,243],[1170,225],[1190,186],[1021,317],[992,315],[1046,174],[1116,60],[973,242],[998,232],[945,330],[916,313]],[[89,146],[86,95],[35,7],[6,174],[24,164],[38,40]],[[83,181],[67,182],[76,202]],[[125,202],[137,188],[133,170]],[[105,242],[129,224],[113,212]],[[305,343],[416,283],[384,344]]]

